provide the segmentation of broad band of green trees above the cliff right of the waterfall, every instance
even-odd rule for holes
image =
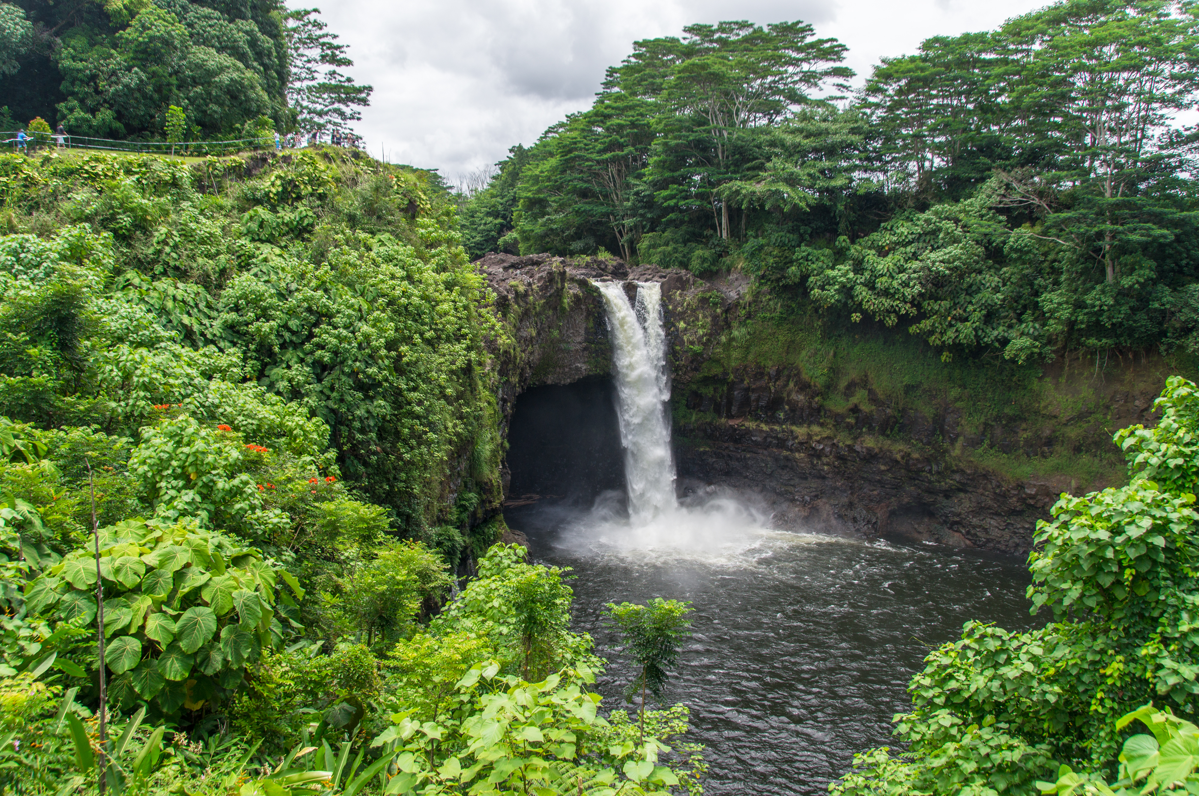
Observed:
[[[634,43],[590,110],[463,197],[472,257],[739,270],[946,357],[1195,350],[1192,2],[1067,0],[926,40],[836,98],[811,25]]]

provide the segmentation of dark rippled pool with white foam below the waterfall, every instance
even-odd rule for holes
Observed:
[[[891,718],[910,705],[929,647],[969,619],[1034,623],[1028,569],[1010,557],[766,531],[728,514],[637,531],[565,508],[505,514],[537,561],[573,568],[576,629],[611,662],[605,708],[621,706],[633,674],[604,603],[693,603],[668,701],[691,707],[711,795],[825,792],[855,752],[893,744]]]

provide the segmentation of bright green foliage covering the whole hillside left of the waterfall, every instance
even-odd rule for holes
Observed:
[[[506,331],[435,174],[0,175],[0,788],[699,792],[686,708],[598,712],[566,573],[498,543]]]

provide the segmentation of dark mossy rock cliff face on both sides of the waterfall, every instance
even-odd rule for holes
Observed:
[[[734,320],[751,306],[743,277],[701,281],[683,271],[544,254],[488,254],[478,265],[510,334],[494,346],[502,434],[517,396],[530,386],[610,375],[603,301],[592,279],[659,282],[680,495],[734,489],[781,529],[1026,553],[1036,520],[1048,517],[1061,492],[1103,484],[1071,474],[1004,476],[963,453],[983,446],[1031,457],[1080,445],[1101,450],[1115,428],[1152,423],[1161,390],[1159,368],[1132,361],[1126,378],[1090,390],[1090,403],[970,424],[960,402],[905,406],[879,396],[868,376],[832,394],[794,363],[722,364],[717,349],[736,336]],[[1060,380],[1068,367],[1067,358],[1043,378]],[[1151,378],[1140,378],[1137,367]],[[1087,412],[1102,422],[1087,426]],[[1072,434],[1062,432],[1067,427]]]

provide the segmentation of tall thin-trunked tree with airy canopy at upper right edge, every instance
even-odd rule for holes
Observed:
[[[1026,140],[1056,150],[1053,170],[1037,181],[1078,193],[1050,222],[1062,233],[1054,240],[1098,263],[1109,284],[1122,254],[1171,236],[1161,218],[1171,211],[1146,186],[1176,173],[1193,143],[1165,133],[1175,114],[1195,104],[1195,13],[1193,2],[1071,0],[998,34],[1008,114]],[[1037,206],[1032,193],[1013,195]],[[1040,209],[1056,210],[1047,197]]]

